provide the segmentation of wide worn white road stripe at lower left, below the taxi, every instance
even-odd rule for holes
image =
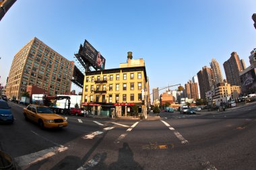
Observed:
[[[21,157],[16,157],[14,160],[18,164],[19,167],[24,167],[25,165],[31,165],[33,163],[36,163],[38,161],[42,161],[44,159],[47,159],[49,157],[52,157],[53,155],[56,155],[57,153],[61,153],[63,151],[66,151],[68,147],[65,146],[55,146],[51,148],[46,148],[42,151],[38,151],[36,153],[31,153],[28,155],[24,155]]]

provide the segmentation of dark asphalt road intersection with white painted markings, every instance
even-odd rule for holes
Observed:
[[[256,103],[154,121],[66,116],[54,130],[10,105],[15,122],[0,124],[0,150],[18,169],[256,169]]]

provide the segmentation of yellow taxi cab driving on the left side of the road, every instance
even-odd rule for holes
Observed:
[[[40,128],[63,128],[67,126],[67,120],[55,114],[50,108],[42,105],[28,105],[23,114],[26,120],[32,120],[39,124]]]

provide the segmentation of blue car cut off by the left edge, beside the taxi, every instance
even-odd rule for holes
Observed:
[[[0,122],[13,123],[14,118],[11,112],[11,107],[3,99],[0,99]]]

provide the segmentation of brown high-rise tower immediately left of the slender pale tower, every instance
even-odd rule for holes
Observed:
[[[201,99],[206,99],[205,93],[212,90],[214,85],[214,73],[211,68],[204,66],[198,73],[197,78],[199,82]]]

